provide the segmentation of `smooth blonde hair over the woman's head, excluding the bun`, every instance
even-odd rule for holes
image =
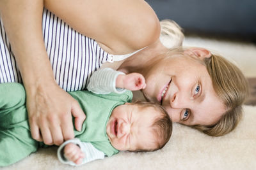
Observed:
[[[241,119],[242,104],[248,96],[248,82],[237,66],[220,55],[205,58],[204,64],[211,76],[213,89],[227,111],[215,125],[193,127],[209,136],[223,136],[234,130]]]

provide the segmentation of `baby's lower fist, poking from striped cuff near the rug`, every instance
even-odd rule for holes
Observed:
[[[81,164],[84,159],[84,153],[81,148],[74,143],[68,143],[64,148],[65,157],[74,162],[75,164]]]

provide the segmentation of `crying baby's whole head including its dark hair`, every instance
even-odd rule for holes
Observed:
[[[170,139],[172,121],[162,106],[138,101],[117,106],[106,131],[117,150],[154,151],[163,148]]]

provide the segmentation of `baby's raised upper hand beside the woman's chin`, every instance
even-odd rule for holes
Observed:
[[[140,73],[119,74],[116,78],[116,87],[131,91],[145,89],[145,78]]]

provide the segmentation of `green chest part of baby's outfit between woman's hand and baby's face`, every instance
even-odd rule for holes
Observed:
[[[86,113],[82,131],[75,130],[76,138],[92,143],[95,148],[108,156],[118,153],[118,150],[113,148],[109,142],[106,125],[116,106],[131,102],[132,92],[127,90],[124,94],[111,93],[104,95],[93,94],[89,91],[77,91],[70,92],[70,95],[79,102],[84,113]]]

